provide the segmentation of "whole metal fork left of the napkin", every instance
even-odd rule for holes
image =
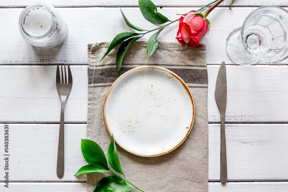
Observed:
[[[61,64],[62,81],[60,81],[59,65],[56,71],[56,86],[61,98],[61,116],[60,116],[60,129],[59,129],[59,142],[58,142],[58,157],[57,157],[57,176],[62,178],[64,175],[64,108],[67,97],[69,96],[72,88],[72,74],[68,65],[68,82],[66,75],[66,67],[64,65],[65,81],[63,78],[63,68]]]

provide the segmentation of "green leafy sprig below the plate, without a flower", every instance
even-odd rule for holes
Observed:
[[[87,161],[88,165],[80,168],[75,176],[84,174],[97,174],[97,173],[111,173],[111,176],[104,177],[98,183],[93,192],[129,192],[133,189],[138,189],[143,191],[139,187],[135,186],[128,180],[126,180],[125,175],[120,166],[120,161],[118,153],[116,150],[116,145],[114,141],[114,136],[112,135],[111,142],[108,148],[108,161],[111,168],[124,176],[124,178],[118,176],[113,170],[108,167],[107,159],[101,147],[94,141],[88,139],[81,139],[81,151]],[[128,187],[127,183],[131,184],[135,188]],[[145,191],[143,191],[145,192]]]

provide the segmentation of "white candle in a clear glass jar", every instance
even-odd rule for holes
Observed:
[[[41,50],[51,50],[63,43],[67,25],[55,7],[37,3],[22,11],[19,30],[22,37],[31,45]]]

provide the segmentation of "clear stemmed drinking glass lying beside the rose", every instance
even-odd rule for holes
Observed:
[[[288,58],[288,11],[267,5],[251,12],[228,36],[226,51],[242,65],[278,63]]]

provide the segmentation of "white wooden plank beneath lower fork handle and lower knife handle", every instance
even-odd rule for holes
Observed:
[[[58,133],[58,124],[9,124],[10,144],[5,154],[10,154],[10,181],[85,181],[86,176],[74,174],[86,165],[80,149],[86,124],[65,124],[62,179],[56,175]],[[4,129],[0,134],[4,135]],[[228,180],[288,180],[287,134],[288,124],[226,124]],[[101,138],[96,142],[101,145]],[[0,156],[3,153],[4,149]],[[0,160],[0,168],[3,166]],[[219,173],[220,125],[209,124],[209,180],[219,180]],[[3,178],[4,171],[0,172],[1,182]]]

